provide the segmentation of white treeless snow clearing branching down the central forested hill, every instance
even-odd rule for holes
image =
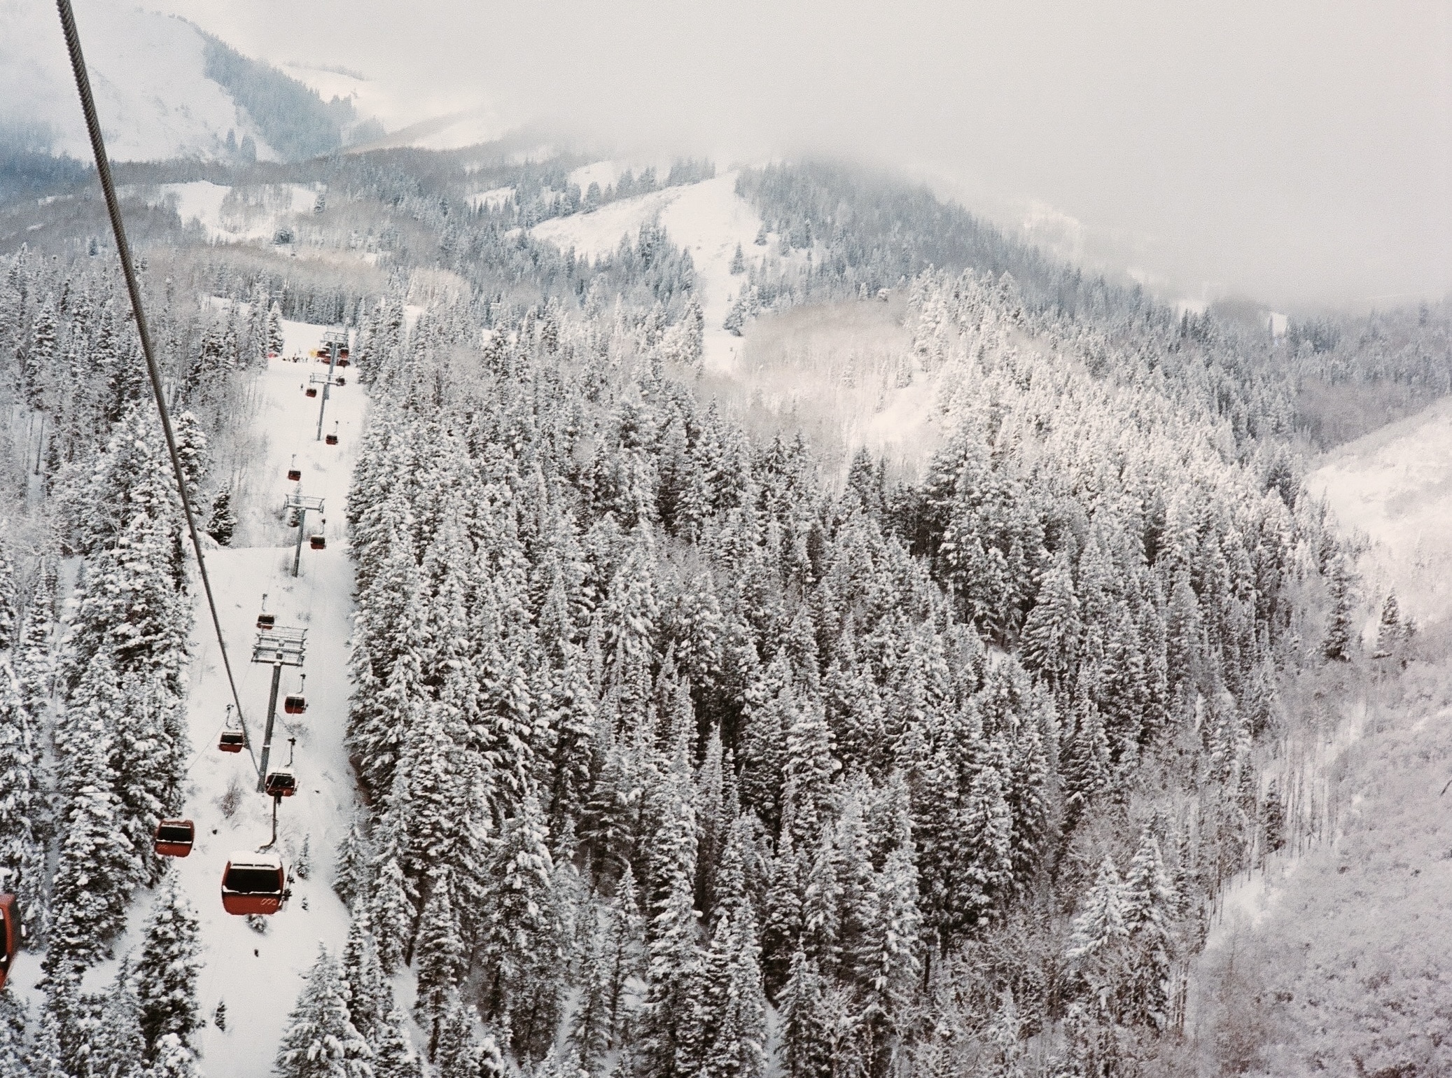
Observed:
[[[613,170],[610,162],[603,164]],[[571,180],[578,183],[576,176],[585,176],[587,170],[607,174],[598,165],[587,165],[572,173]],[[614,176],[613,171],[608,174]],[[530,234],[562,248],[574,247],[578,255],[598,258],[614,251],[623,235],[633,242],[640,226],[652,221],[665,228],[672,242],[690,250],[696,263],[696,296],[706,315],[707,370],[733,370],[741,338],[722,329],[722,322],[745,277],[730,274],[730,258],[738,244],[745,251],[755,251],[752,241],[761,229],[761,215],[736,194],[736,173],[620,199],[592,213],[552,218],[536,225]]]

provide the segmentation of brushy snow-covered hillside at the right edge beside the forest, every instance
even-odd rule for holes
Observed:
[[[1330,1061],[1346,1059],[1358,1074],[1448,1074],[1452,402],[1342,445],[1307,485],[1369,543],[1356,563],[1366,651],[1388,593],[1423,640],[1406,670],[1342,672],[1318,728],[1284,747],[1323,840],[1225,889],[1194,1024],[1240,1040],[1253,1074],[1339,1072]]]

